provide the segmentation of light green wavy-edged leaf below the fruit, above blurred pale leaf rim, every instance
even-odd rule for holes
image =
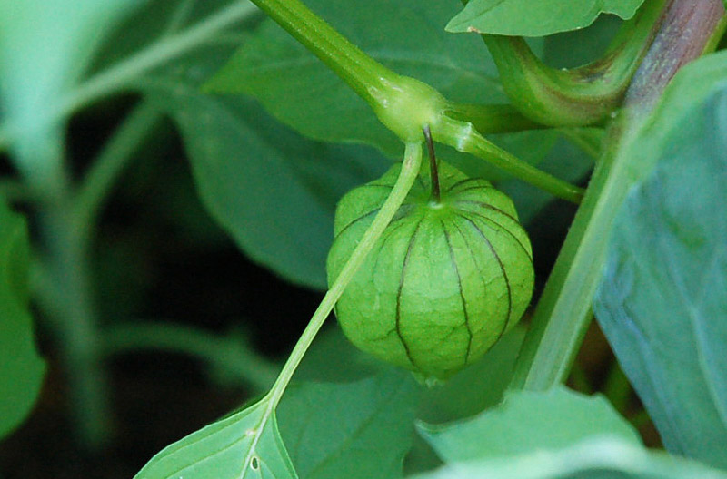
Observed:
[[[582,396],[563,386],[544,393],[510,392],[500,406],[472,419],[422,424],[419,429],[445,463],[557,450],[594,435],[641,444],[605,398]]]

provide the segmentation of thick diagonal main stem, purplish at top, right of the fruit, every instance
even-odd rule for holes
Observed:
[[[545,390],[563,382],[593,312],[612,222],[634,181],[636,132],[678,68],[702,54],[720,24],[719,0],[674,0],[612,122],[603,157],[563,243],[523,342],[511,389]]]

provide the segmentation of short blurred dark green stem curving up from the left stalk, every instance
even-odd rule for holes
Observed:
[[[153,131],[162,118],[151,103],[136,106],[106,142],[104,149],[93,162],[75,195],[76,231],[80,240],[88,242],[98,211],[104,204],[112,185],[124,171],[134,151]]]

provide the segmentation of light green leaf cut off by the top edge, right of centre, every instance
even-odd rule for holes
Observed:
[[[601,14],[628,20],[643,0],[472,0],[447,24],[448,32],[545,36],[577,30]]]

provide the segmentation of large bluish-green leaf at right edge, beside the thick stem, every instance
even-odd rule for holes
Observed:
[[[675,80],[652,128],[643,132],[650,140],[646,162],[657,165],[615,220],[594,300],[603,331],[664,445],[722,468],[727,467],[725,58],[695,65]],[[719,71],[721,76],[714,74]],[[651,136],[657,125],[658,135]]]

